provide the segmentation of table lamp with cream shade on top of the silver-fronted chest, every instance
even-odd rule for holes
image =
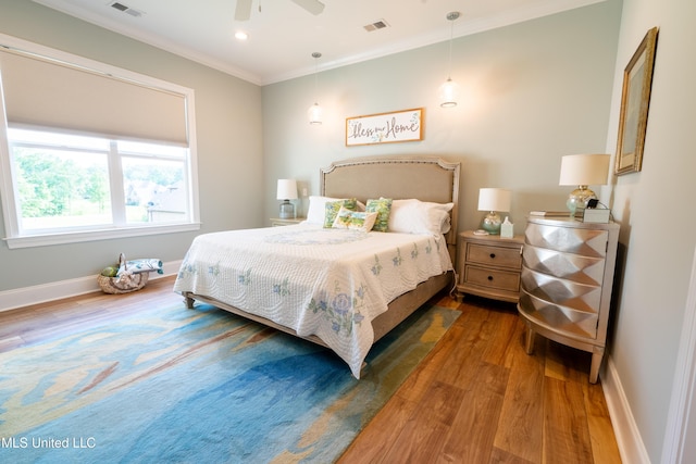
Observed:
[[[609,154],[569,154],[561,159],[558,185],[577,187],[566,202],[571,217],[575,216],[576,210],[585,209],[588,200],[597,199],[587,186],[607,184],[610,158]]]

